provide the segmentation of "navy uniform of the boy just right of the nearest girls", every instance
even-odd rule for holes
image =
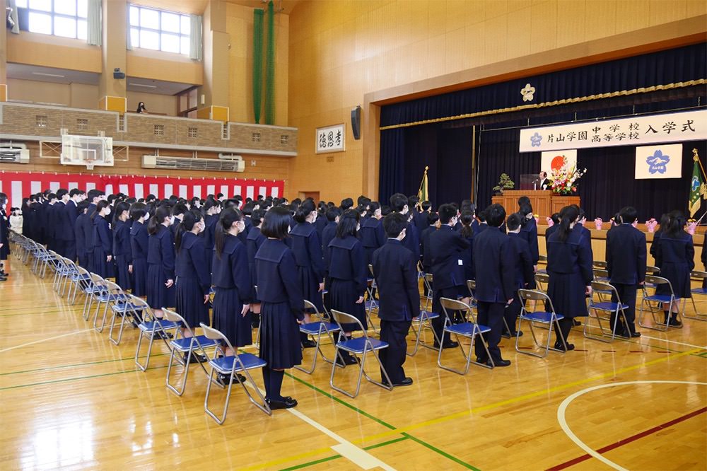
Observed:
[[[417,260],[399,240],[389,238],[373,252],[373,274],[380,299],[380,339],[388,343],[388,348],[379,352],[380,361],[397,384],[405,378],[407,332],[412,318],[420,315]],[[385,380],[382,372],[381,377]]]

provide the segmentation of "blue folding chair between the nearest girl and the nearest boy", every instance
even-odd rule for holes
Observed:
[[[329,385],[334,390],[337,390],[351,398],[354,398],[361,390],[361,377],[366,376],[366,380],[370,381],[370,383],[378,385],[381,388],[387,389],[389,391],[392,390],[393,387],[392,381],[390,380],[390,376],[388,376],[387,371],[385,371],[385,366],[383,366],[382,362],[380,361],[380,357],[378,356],[378,350],[387,349],[387,342],[382,342],[382,340],[369,337],[368,332],[366,332],[366,330],[363,330],[363,325],[361,324],[361,321],[353,315],[342,313],[339,310],[332,309],[332,318],[334,318],[334,321],[337,322],[337,325],[339,325],[340,330],[339,342],[336,345],[335,356],[339,356],[341,351],[348,351],[350,354],[354,354],[357,359],[359,356],[361,358],[358,359],[358,381],[356,383],[356,391],[354,391],[353,394],[342,388],[339,388],[337,385],[334,385],[334,373],[337,371],[336,362],[332,364],[332,376],[329,377]],[[358,329],[361,330],[361,333],[363,335],[361,337],[346,340],[346,337],[344,337],[344,335],[342,334],[342,332],[344,332],[344,329],[343,327],[341,327],[341,324],[356,324],[358,325]],[[386,384],[379,383],[378,381],[368,376],[368,373],[366,373],[366,357],[369,353],[373,354],[376,361],[378,361],[380,371],[382,371],[383,376],[385,376]]]

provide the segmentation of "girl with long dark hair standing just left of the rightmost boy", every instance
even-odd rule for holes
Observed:
[[[555,312],[564,316],[555,327],[556,349],[563,349],[562,340],[568,350],[574,345],[568,343],[568,335],[574,318],[587,315],[586,296],[592,295],[592,250],[591,241],[583,231],[575,231],[579,219],[579,209],[567,206],[560,211],[560,224],[547,240],[547,273],[549,283],[547,295]]]

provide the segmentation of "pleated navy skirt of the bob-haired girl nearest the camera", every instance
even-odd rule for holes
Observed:
[[[302,363],[300,329],[289,303],[262,303],[259,356],[273,369]]]

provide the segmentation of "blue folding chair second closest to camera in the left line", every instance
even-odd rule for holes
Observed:
[[[192,363],[192,356],[201,354],[208,358],[206,355],[206,349],[218,347],[218,342],[214,339],[207,338],[206,335],[197,335],[196,332],[192,330],[192,327],[189,326],[187,321],[182,318],[181,315],[175,313],[175,311],[163,309],[162,312],[164,313],[166,320],[170,322],[177,322],[177,324],[189,334],[189,337],[185,337],[182,330],[177,329],[175,338],[170,340],[170,362],[167,364],[167,378],[165,380],[165,384],[167,385],[168,390],[174,392],[177,396],[181,396],[184,394],[185,388],[187,388],[187,376],[189,376],[189,364]],[[182,354],[182,356],[178,354]],[[177,359],[178,364],[184,367],[182,384],[179,389],[177,389],[177,386],[170,383],[170,375],[172,373],[172,367],[175,359]],[[201,364],[201,361],[197,361],[197,363],[201,366],[206,378],[212,380],[211,375],[208,371],[206,371],[206,368],[204,368],[204,364]]]

